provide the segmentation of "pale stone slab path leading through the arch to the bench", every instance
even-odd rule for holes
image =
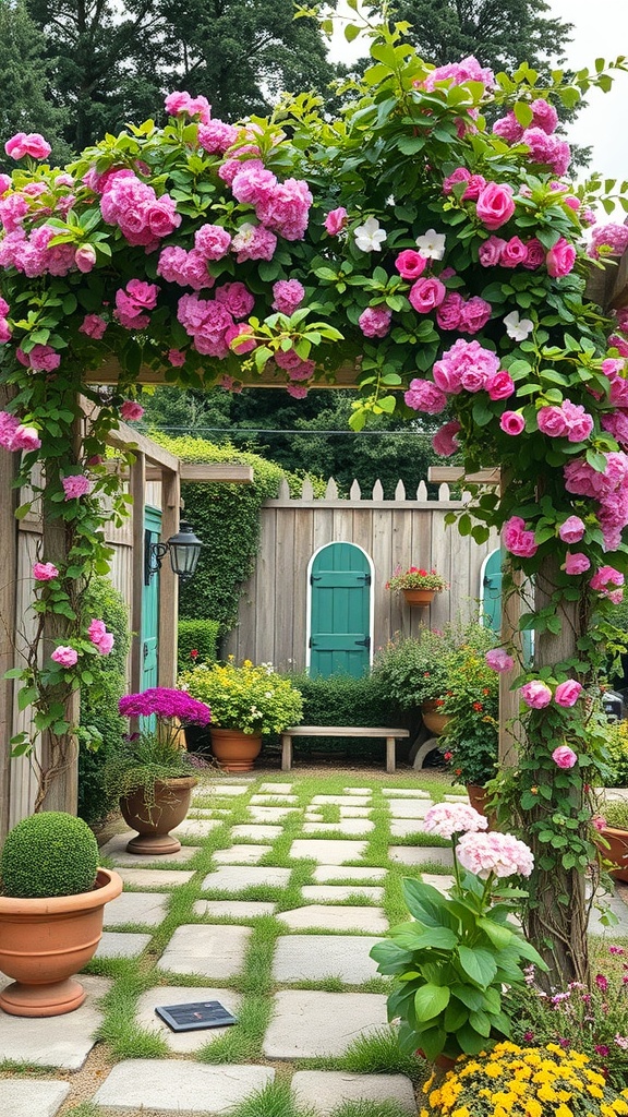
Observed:
[[[0,1079],[0,1114],[65,1114],[72,1073],[69,1081],[57,1076],[78,1071],[88,1059],[103,1019],[99,999],[121,965],[115,960],[142,955],[152,984],[144,983],[129,1022],[162,1046],[159,1058],[124,1058],[97,1071],[89,1100],[103,1117],[228,1115],[273,1083],[276,1071],[265,1060],[284,1065],[282,1077],[285,1069],[296,1102],[312,1117],[330,1117],[351,1100],[370,1104],[368,1117],[391,1102],[415,1115],[409,1078],[343,1069],[354,1041],[389,1027],[388,978],[378,975],[370,952],[389,926],[390,867],[440,890],[453,880],[450,849],[421,844],[434,841],[421,829],[429,793],[413,787],[412,777],[406,782],[373,789],[336,782],[325,794],[322,777],[317,793],[306,796],[296,779],[215,776],[196,789],[193,809],[178,828],[179,853],[149,861],[126,853],[131,832],[112,838],[102,852],[120,868],[125,888],[105,909],[96,955],[108,976],[84,976],[87,1000],[65,1016],[25,1020],[0,1012],[0,1060],[47,1068],[37,1079],[17,1071]],[[370,855],[374,867],[365,863]],[[628,935],[628,908],[617,897],[612,906],[620,919],[612,935]],[[267,1022],[259,1015],[264,997]],[[206,1001],[219,1001],[240,1023],[175,1033],[155,1013]],[[256,1014],[253,1046],[245,1037],[236,1057],[225,1059],[238,1028],[250,1027]],[[331,1066],[291,1066],[313,1058]]]

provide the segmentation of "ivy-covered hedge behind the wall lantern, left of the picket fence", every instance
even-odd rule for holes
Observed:
[[[203,483],[183,488],[185,516],[206,546],[193,579],[180,588],[179,615],[190,620],[211,618],[220,623],[220,634],[226,636],[238,618],[240,586],[255,569],[261,505],[277,496],[283,477],[295,496],[301,493],[303,478],[285,474],[273,461],[237,450],[230,443],[217,446],[191,436],[169,438],[155,432],[151,438],[182,461],[253,466],[253,485]],[[313,479],[312,484],[322,495],[323,483]]]

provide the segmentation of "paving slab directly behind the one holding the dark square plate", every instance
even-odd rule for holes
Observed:
[[[225,981],[241,972],[253,932],[235,924],[183,924],[174,932],[159,965],[175,974],[202,974]]]

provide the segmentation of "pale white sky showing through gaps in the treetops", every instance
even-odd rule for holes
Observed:
[[[573,23],[568,47],[568,63],[574,69],[593,69],[596,58],[607,61],[618,55],[628,57],[628,0],[548,0],[548,15]],[[339,12],[349,12],[339,0]],[[341,34],[334,36],[330,55],[333,59],[351,59],[365,54],[358,42],[350,46]],[[606,179],[628,180],[628,74],[618,74],[610,93],[593,89],[588,106],[570,128],[570,139],[583,147],[592,147],[590,171],[600,171]]]

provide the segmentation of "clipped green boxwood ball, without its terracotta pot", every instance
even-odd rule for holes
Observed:
[[[0,859],[4,896],[76,896],[94,887],[98,846],[83,819],[44,811],[7,834]]]

